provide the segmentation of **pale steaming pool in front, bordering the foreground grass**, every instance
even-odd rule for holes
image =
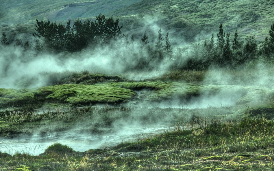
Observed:
[[[104,134],[81,134],[80,131],[62,131],[44,136],[19,136],[0,140],[0,151],[11,155],[16,152],[39,155],[54,142],[72,147],[75,151],[84,152],[89,149],[103,149],[124,141],[131,141],[160,133],[167,130],[166,126],[124,128],[119,131],[107,129]]]

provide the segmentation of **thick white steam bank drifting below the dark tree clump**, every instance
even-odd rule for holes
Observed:
[[[18,89],[46,86],[48,80],[43,73],[52,72],[88,70],[96,73],[125,74],[129,69],[134,69],[139,61],[148,57],[147,51],[141,46],[140,41],[128,43],[122,39],[102,47],[90,46],[80,52],[60,54],[37,54],[34,50],[5,46],[0,54],[0,87]],[[156,71],[150,71],[148,77],[154,76],[155,73],[163,74],[169,63],[163,60],[162,63],[153,65]],[[133,79],[140,78],[141,76],[137,76]]]

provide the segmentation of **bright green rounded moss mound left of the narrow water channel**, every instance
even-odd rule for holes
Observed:
[[[64,84],[42,87],[38,89],[38,94],[47,94],[46,99],[68,102],[70,104],[117,103],[127,101],[136,95],[132,90],[110,87],[106,84]]]

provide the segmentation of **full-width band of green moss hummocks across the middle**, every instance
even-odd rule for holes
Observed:
[[[257,86],[199,85],[178,82],[116,82],[109,84],[63,84],[37,89],[0,89],[0,105],[28,102],[36,98],[70,104],[125,102],[136,95],[133,90],[149,89],[149,101],[188,99],[199,95],[236,96],[236,104],[272,102],[274,91]]]

